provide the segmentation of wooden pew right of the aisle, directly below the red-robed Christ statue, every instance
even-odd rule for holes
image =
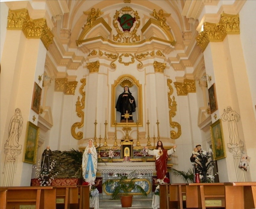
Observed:
[[[183,200],[186,200],[186,183],[161,184],[159,191],[160,208],[183,209]]]

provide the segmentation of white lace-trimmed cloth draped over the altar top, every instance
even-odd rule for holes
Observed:
[[[97,173],[101,174],[136,174],[156,173],[155,162],[120,162],[120,163],[98,163]]]

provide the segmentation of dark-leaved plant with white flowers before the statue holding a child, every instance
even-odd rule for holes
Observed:
[[[202,151],[196,155],[195,167],[199,172],[199,177],[202,183],[210,183],[214,181],[214,176],[218,173],[211,175],[212,168],[215,164],[215,161],[208,160],[211,158],[211,150],[209,152]]]

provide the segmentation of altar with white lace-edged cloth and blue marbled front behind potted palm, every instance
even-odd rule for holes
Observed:
[[[152,176],[156,173],[155,162],[120,162],[120,163],[98,163],[97,173],[102,175],[102,182],[108,179],[115,179],[115,174],[131,174],[130,178],[137,177],[136,184],[140,185],[151,197]],[[102,187],[102,198],[110,198],[113,188],[110,186]],[[131,191],[132,195],[139,195],[137,191]]]

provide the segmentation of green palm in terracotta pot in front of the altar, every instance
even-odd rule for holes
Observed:
[[[136,179],[138,177],[129,178],[134,174],[116,174],[117,179],[108,179],[102,186],[114,186],[111,194],[113,200],[120,199],[122,207],[132,207],[133,195],[129,193],[134,190],[143,196],[147,196],[145,190],[138,184],[136,184]]]

